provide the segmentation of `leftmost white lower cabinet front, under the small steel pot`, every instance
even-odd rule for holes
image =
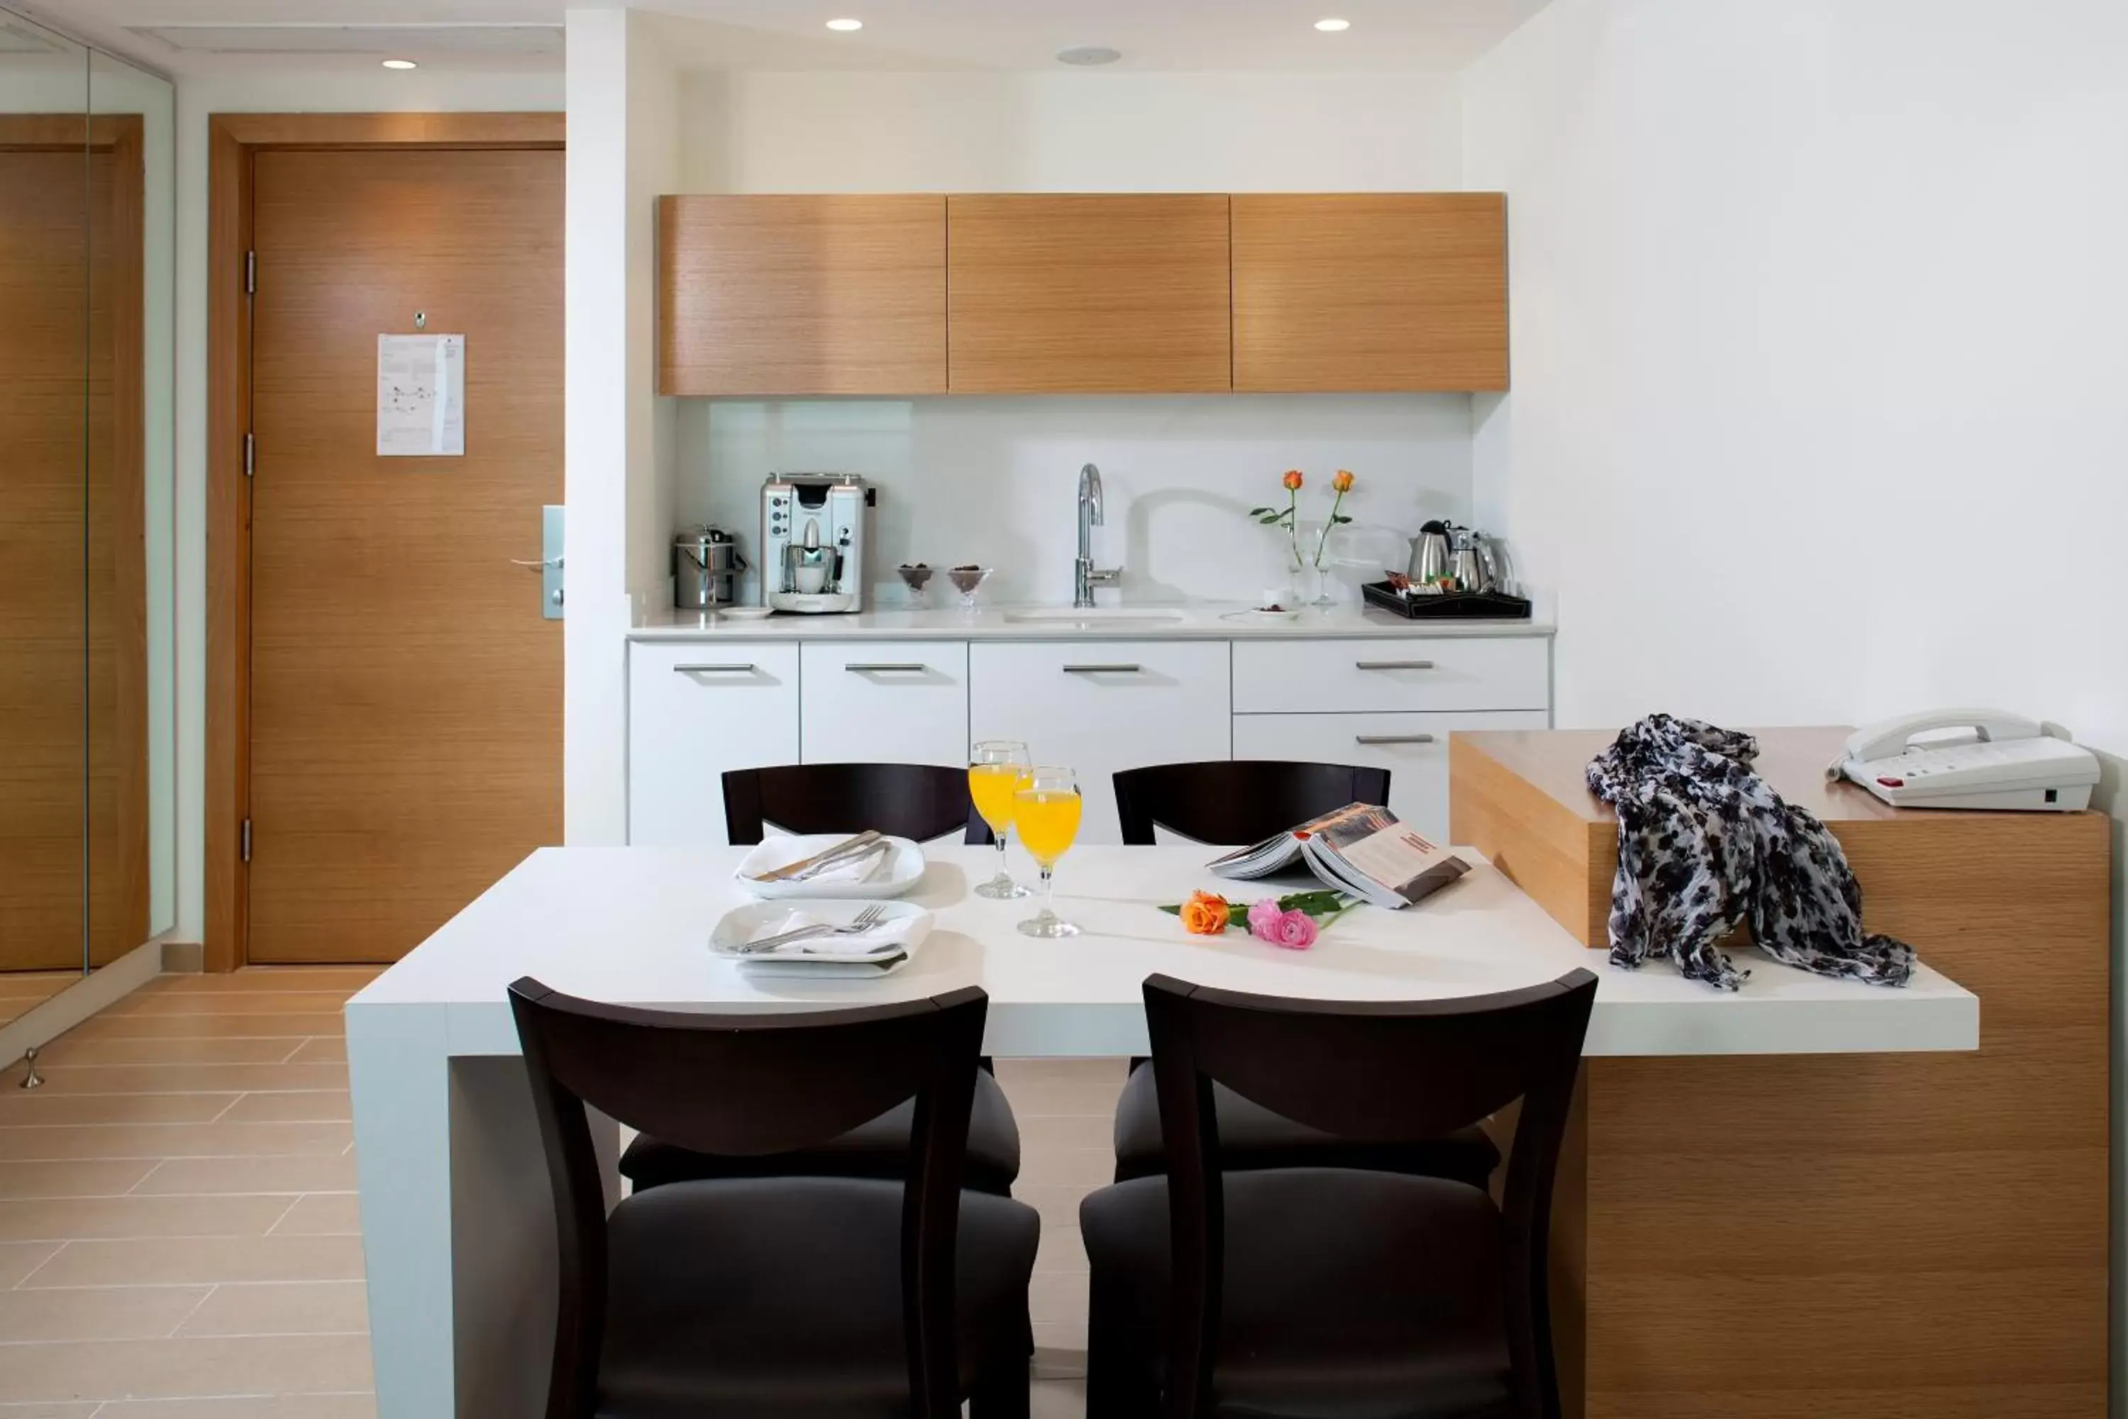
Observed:
[[[724,770],[798,762],[798,647],[628,649],[628,840],[726,842]]]

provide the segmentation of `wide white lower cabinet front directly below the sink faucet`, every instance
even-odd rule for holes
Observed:
[[[968,647],[968,734],[1079,770],[1079,840],[1119,842],[1109,777],[1228,757],[1228,677],[1226,640],[983,640]]]

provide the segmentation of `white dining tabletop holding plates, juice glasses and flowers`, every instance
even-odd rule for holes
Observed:
[[[1224,989],[1330,1000],[1430,1000],[1551,981],[1575,966],[1600,979],[1590,1055],[1749,1055],[1949,1051],[1979,1047],[1979,1000],[1926,966],[1905,989],[1830,981],[1747,953],[1751,979],[1719,994],[1670,966],[1617,970],[1583,949],[1490,864],[1439,896],[1387,913],[1362,906],[1311,951],[1241,932],[1187,936],[1160,902],[1190,889],[1268,896],[1221,883],[1204,847],[1081,847],[1058,870],[1058,911],[1085,928],[1030,940],[1013,928],[1032,902],[968,891],[996,853],[932,845],[909,900],[938,913],[909,968],[877,981],[751,979],[709,955],[711,928],[749,900],[732,881],[747,849],[549,847],[521,862],[349,1002],[349,1017],[440,1008],[447,1053],[517,1053],[504,989],[538,976],[617,1004],[777,1011],[990,991],[996,1055],[1145,1053],[1141,985],[1153,972]],[[1032,879],[1028,859],[1013,870]]]

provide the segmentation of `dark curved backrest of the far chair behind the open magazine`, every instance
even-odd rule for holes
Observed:
[[[1345,804],[1387,804],[1390,770],[1285,759],[1151,764],[1115,774],[1124,842],[1151,847],[1153,825],[1198,842],[1262,842]]]

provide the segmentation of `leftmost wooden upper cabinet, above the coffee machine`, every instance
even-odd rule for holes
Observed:
[[[945,394],[945,198],[660,198],[658,391]]]

